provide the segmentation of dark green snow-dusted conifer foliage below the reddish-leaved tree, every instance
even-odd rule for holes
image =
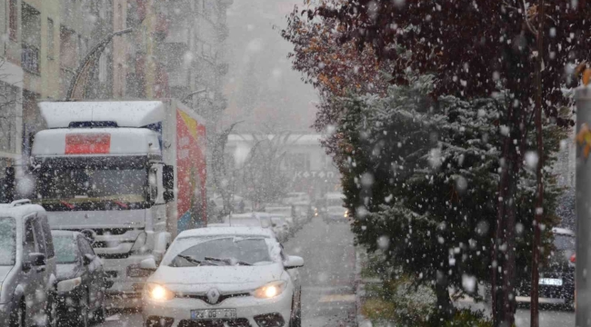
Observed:
[[[434,103],[426,100],[431,87],[429,76],[413,77],[385,98],[341,99],[346,114],[334,137],[357,242],[370,251],[381,247],[388,265],[433,287],[444,305],[448,286],[473,293],[474,283],[490,276],[506,137],[498,117],[507,104],[502,95]],[[546,154],[564,137],[556,125],[546,126]],[[546,156],[546,164],[553,161]],[[544,179],[548,248],[560,190],[550,173]],[[510,226],[517,232],[517,273],[529,273],[535,190],[535,173],[523,169],[514,197],[517,223]]]

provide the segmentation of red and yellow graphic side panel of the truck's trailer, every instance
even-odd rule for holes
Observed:
[[[206,224],[205,126],[176,110],[178,233]]]

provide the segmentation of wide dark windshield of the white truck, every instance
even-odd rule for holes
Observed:
[[[39,175],[37,197],[67,203],[114,200],[141,203],[146,200],[147,171],[140,168],[65,168]]]

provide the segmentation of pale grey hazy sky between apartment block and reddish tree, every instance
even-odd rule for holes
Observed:
[[[291,69],[287,54],[293,47],[280,35],[296,4],[301,0],[235,0],[228,9],[225,124],[245,120],[240,129],[310,130],[316,91]]]

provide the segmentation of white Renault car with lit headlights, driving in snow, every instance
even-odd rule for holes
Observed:
[[[145,326],[301,325],[301,257],[267,229],[207,227],[180,233],[145,283]]]

